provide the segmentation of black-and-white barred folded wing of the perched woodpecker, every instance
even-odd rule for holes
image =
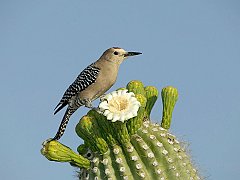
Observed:
[[[64,108],[73,96],[86,89],[96,82],[100,69],[94,66],[94,63],[86,67],[77,77],[77,79],[65,91],[61,101],[54,109],[56,114]]]

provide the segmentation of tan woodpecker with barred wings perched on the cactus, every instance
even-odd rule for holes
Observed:
[[[128,52],[119,47],[107,49],[94,63],[87,66],[68,87],[54,109],[54,115],[67,106],[58,131],[52,140],[59,140],[71,115],[81,106],[93,108],[92,101],[103,96],[116,82],[120,64],[140,52]]]

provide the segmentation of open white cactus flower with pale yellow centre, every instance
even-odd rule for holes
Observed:
[[[101,98],[98,107],[108,120],[124,122],[137,116],[140,105],[140,102],[135,98],[135,94],[124,89],[105,95]]]

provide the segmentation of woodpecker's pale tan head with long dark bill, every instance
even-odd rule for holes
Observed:
[[[127,59],[130,56],[135,56],[142,54],[140,52],[127,52],[122,48],[119,47],[112,47],[107,49],[101,58],[104,58],[107,61],[116,63],[116,64],[121,64],[125,59]]]

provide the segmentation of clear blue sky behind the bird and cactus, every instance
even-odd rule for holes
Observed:
[[[55,135],[53,109],[79,72],[112,46],[141,51],[121,66],[133,79],[179,90],[171,131],[189,142],[201,174],[240,179],[240,1],[0,1],[0,179],[76,179],[49,162],[41,143]],[[95,103],[96,104],[96,103]],[[152,119],[161,118],[161,100]],[[74,132],[79,109],[61,142]]]

